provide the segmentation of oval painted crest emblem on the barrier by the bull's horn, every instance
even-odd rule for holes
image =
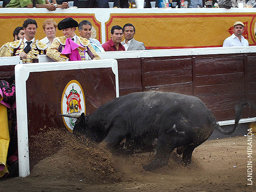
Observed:
[[[61,114],[85,113],[84,91],[76,80],[67,83],[61,97]],[[73,131],[76,118],[62,117],[65,126]]]

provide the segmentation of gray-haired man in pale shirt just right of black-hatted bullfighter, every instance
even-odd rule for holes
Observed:
[[[78,25],[79,34],[82,38],[87,38],[96,52],[104,51],[102,45],[97,39],[90,38],[92,35],[92,23],[88,20],[82,20]]]

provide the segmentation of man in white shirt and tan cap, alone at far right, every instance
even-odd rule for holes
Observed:
[[[236,21],[234,23],[234,33],[224,40],[222,47],[249,46],[248,41],[242,36],[243,32],[244,23]]]

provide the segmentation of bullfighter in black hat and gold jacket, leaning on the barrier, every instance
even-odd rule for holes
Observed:
[[[72,54],[66,55],[61,54],[61,52],[63,52],[63,50],[65,49],[65,45],[67,44],[67,42],[70,42],[70,39],[72,39],[77,44],[77,46],[81,45],[85,47],[85,49],[83,49],[82,47],[76,47],[76,50],[78,50],[80,56],[80,58],[77,58],[76,60],[100,59],[99,55],[96,54],[95,50],[90,45],[90,41],[86,38],[78,37],[75,34],[77,26],[77,21],[71,17],[67,17],[58,23],[58,29],[62,30],[64,36],[56,37],[54,39],[54,41],[47,50],[47,56],[49,58],[52,58],[55,61],[69,61],[70,57],[67,56],[70,56]]]

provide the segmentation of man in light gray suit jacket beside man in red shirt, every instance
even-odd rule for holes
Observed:
[[[126,23],[123,29],[125,40],[121,44],[125,47],[126,51],[146,49],[143,42],[134,39],[135,27],[131,23]]]

